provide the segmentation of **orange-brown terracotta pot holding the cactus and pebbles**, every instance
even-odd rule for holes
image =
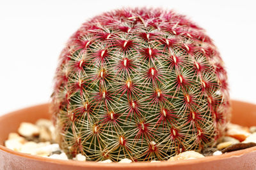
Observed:
[[[256,104],[232,101],[232,109],[233,123],[244,126],[256,125]],[[48,159],[15,152],[3,146],[8,134],[17,132],[21,122],[35,123],[39,118],[50,118],[48,110],[49,104],[42,104],[0,117],[0,169],[256,169],[256,146],[202,159],[131,164]]]

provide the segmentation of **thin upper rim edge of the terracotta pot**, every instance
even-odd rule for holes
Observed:
[[[236,101],[236,102],[241,102],[241,101]],[[243,103],[243,102],[242,102]],[[47,104],[47,103],[45,103]],[[31,106],[28,108],[33,108],[33,107],[37,107],[37,106],[41,106],[41,105],[45,105],[45,104],[38,104],[36,106]],[[252,104],[252,103],[251,103]],[[253,104],[255,105],[255,104]],[[28,108],[24,108],[22,110],[26,110]],[[19,111],[22,111],[19,110]],[[11,115],[15,114],[16,111],[13,111],[12,113],[8,113],[5,114],[3,116],[0,117],[1,118],[8,118]],[[51,158],[47,158],[47,157],[40,157],[40,156],[36,156],[36,155],[30,155],[28,153],[21,153],[21,152],[16,152],[14,150],[10,150],[8,148],[6,148],[3,145],[0,145],[0,150],[3,150],[3,152],[7,152],[7,153],[11,153],[12,155],[16,155],[19,157],[25,157],[27,159],[33,159],[33,160],[37,160],[37,161],[43,161],[43,162],[50,162],[50,163],[54,163],[54,164],[63,164],[63,165],[72,165],[72,166],[79,166],[79,167],[124,167],[125,163],[118,163],[118,162],[111,162],[111,163],[100,163],[100,162],[93,162],[93,161],[87,161],[87,162],[81,162],[81,161],[77,161],[77,160],[60,160],[60,159],[51,159]],[[222,155],[212,155],[212,156],[208,156],[208,157],[204,157],[204,158],[198,158],[198,159],[191,159],[191,160],[175,160],[175,161],[161,161],[161,162],[156,162],[156,163],[150,163],[150,162],[132,162],[130,164],[125,164],[125,167],[166,167],[166,166],[179,166],[182,164],[186,164],[186,165],[190,165],[190,164],[198,164],[198,163],[202,163],[202,162],[211,162],[212,160],[220,160],[220,159],[228,159],[230,157],[241,157],[242,155],[246,154],[246,153],[250,153],[250,152],[256,152],[256,146],[253,146],[252,148],[246,148],[243,150],[237,150],[234,152],[229,152],[229,153],[223,153]]]

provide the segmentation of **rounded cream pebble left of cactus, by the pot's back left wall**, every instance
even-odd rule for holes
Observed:
[[[34,124],[22,122],[18,129],[18,132],[21,136],[33,137],[39,135],[39,128]]]

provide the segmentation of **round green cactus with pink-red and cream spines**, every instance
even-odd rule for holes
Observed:
[[[227,73],[204,29],[133,8],[85,22],[60,55],[52,94],[58,142],[87,160],[167,160],[200,152],[230,115]]]

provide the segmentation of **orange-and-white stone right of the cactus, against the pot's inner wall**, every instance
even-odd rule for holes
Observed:
[[[242,127],[241,125],[236,124],[228,124],[227,136],[236,138],[239,141],[244,141],[244,139],[250,136],[250,131],[248,127]]]

